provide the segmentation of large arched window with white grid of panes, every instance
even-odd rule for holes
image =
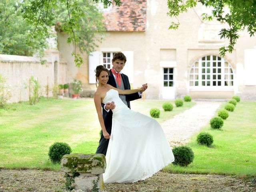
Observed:
[[[194,62],[189,81],[195,87],[233,86],[233,69],[224,58],[208,55]]]

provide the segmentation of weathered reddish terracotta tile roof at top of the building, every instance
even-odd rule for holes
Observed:
[[[113,4],[109,13],[104,13],[107,31],[145,31],[146,0],[122,0],[120,7]]]

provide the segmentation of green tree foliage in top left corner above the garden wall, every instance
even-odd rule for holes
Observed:
[[[32,56],[36,52],[40,54],[47,47],[44,39],[27,39],[34,27],[23,20],[23,12],[28,1],[16,0],[0,1],[0,53]],[[44,30],[44,28],[42,28]],[[38,35],[39,36],[39,35]]]

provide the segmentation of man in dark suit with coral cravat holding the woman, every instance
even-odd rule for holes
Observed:
[[[126,56],[122,52],[116,52],[112,59],[113,68],[109,71],[110,74],[108,77],[108,84],[122,90],[131,89],[128,76],[122,73],[122,69],[124,68],[125,63],[126,63]],[[142,86],[144,88],[144,91],[148,88],[147,84],[143,84]],[[141,98],[141,93],[138,92],[130,95],[119,95],[119,97],[124,102],[124,104],[126,104],[126,106],[130,108],[130,101]],[[102,108],[103,108],[102,115],[104,119],[104,124],[108,134],[111,135],[112,115],[113,115],[111,109],[115,108],[114,101],[112,101],[111,103],[107,103],[106,105],[102,104]],[[101,132],[100,142],[96,150],[96,153],[106,155],[106,152],[108,149],[108,142],[109,142],[109,139],[106,140]]]

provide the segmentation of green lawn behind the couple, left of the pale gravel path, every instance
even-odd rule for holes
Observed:
[[[142,101],[131,103],[132,109],[149,116],[149,110],[161,110],[163,122],[192,107],[185,102],[164,112],[164,101]],[[172,102],[173,103],[173,102]],[[28,102],[9,104],[0,109],[0,166],[6,168],[50,168],[59,169],[48,159],[49,146],[54,142],[66,142],[72,153],[94,153],[98,146],[100,125],[92,99],[55,100],[41,98],[35,106]]]

